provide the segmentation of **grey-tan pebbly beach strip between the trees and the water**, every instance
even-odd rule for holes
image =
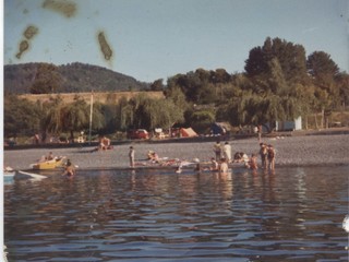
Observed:
[[[349,165],[349,135],[301,135],[265,138],[263,142],[273,144],[276,150],[276,166],[321,166],[321,165]],[[229,143],[234,152],[244,152],[248,155],[257,153],[260,150],[256,138],[243,140],[230,140]],[[105,152],[93,152],[91,147],[70,148],[31,148],[4,151],[4,166],[12,168],[28,169],[41,155],[49,151],[53,155],[63,155],[70,158],[80,168],[128,168],[129,146],[135,148],[136,160],[144,160],[146,153],[153,150],[160,157],[201,162],[209,160],[214,156],[215,142],[192,143],[130,143],[115,146]],[[258,158],[258,163],[261,159]]]

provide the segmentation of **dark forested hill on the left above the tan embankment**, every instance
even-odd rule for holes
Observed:
[[[76,93],[146,90],[147,83],[106,68],[70,63],[4,66],[4,92],[15,94]]]

